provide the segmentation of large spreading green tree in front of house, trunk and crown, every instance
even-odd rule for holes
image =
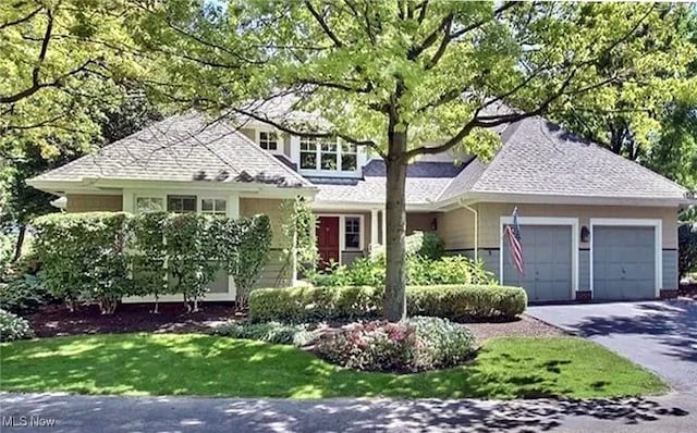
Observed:
[[[162,54],[160,67],[171,78],[159,88],[171,100],[301,136],[339,137],[384,159],[384,314],[395,321],[405,314],[409,161],[453,148],[490,157],[498,144],[491,128],[498,125],[562,112],[591,95],[606,97],[617,82],[650,79],[661,70],[657,63],[664,71],[680,70],[682,58],[694,51],[681,47],[678,55],[648,55],[652,47],[645,44],[645,29],[664,27],[685,9],[176,1],[154,5],[134,37]],[[609,64],[615,57],[622,62]],[[282,109],[288,96],[295,112]],[[298,110],[315,115],[297,115]]]

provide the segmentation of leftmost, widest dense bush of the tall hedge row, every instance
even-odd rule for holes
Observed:
[[[49,293],[69,305],[80,299],[112,313],[133,290],[127,277],[124,212],[50,214],[36,219],[35,249]]]

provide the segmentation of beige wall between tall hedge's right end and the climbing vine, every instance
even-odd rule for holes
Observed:
[[[240,216],[253,216],[264,213],[271,222],[271,253],[269,263],[261,272],[256,287],[282,287],[291,285],[290,264],[283,256],[283,211],[280,199],[240,198]]]

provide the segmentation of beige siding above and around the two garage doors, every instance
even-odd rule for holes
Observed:
[[[510,215],[514,205],[479,203],[479,247],[499,248],[500,218]],[[591,218],[662,220],[663,248],[677,248],[677,209],[620,206],[517,205],[521,216],[578,218],[578,226],[588,226]],[[588,244],[580,244],[588,248]]]

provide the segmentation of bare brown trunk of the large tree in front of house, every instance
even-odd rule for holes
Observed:
[[[407,161],[406,133],[390,136],[390,157],[387,164],[387,236],[386,236],[386,287],[384,319],[399,322],[406,317],[406,210],[404,189]]]

